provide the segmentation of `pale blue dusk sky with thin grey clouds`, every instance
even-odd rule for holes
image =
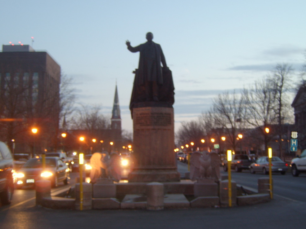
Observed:
[[[146,33],[163,49],[175,87],[175,130],[224,90],[248,87],[278,63],[305,63],[306,1],[2,1],[0,44],[47,51],[72,77],[78,104],[111,114],[117,82],[122,128]],[[34,37],[34,42],[31,37]],[[1,46],[2,48],[2,46]]]

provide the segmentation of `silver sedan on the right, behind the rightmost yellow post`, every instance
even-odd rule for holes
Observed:
[[[272,156],[271,158],[271,169],[272,172],[280,172],[285,175],[288,170],[288,164],[282,161],[277,156]],[[267,156],[259,157],[256,162],[250,165],[250,172],[254,174],[255,172],[260,172],[263,174],[268,174],[269,172],[269,158]]]

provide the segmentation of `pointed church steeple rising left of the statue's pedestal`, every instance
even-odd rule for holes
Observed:
[[[114,105],[111,117],[111,129],[113,130],[115,139],[121,139],[121,117],[120,117],[117,83],[115,88],[115,98],[114,98]]]

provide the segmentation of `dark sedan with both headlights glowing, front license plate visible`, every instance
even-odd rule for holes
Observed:
[[[16,187],[34,186],[40,179],[51,181],[51,187],[56,187],[59,182],[68,184],[70,180],[69,168],[59,157],[45,157],[46,167],[43,170],[42,158],[29,159],[20,170],[16,172]]]

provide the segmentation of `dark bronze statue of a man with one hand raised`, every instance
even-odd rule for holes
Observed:
[[[151,32],[146,34],[146,39],[146,43],[136,47],[132,47],[130,42],[126,41],[129,51],[140,52],[134,86],[136,84],[144,87],[144,101],[160,101],[159,88],[164,83],[163,72],[169,71],[169,69],[160,45],[152,41],[153,34]],[[163,68],[160,62],[163,64]]]

